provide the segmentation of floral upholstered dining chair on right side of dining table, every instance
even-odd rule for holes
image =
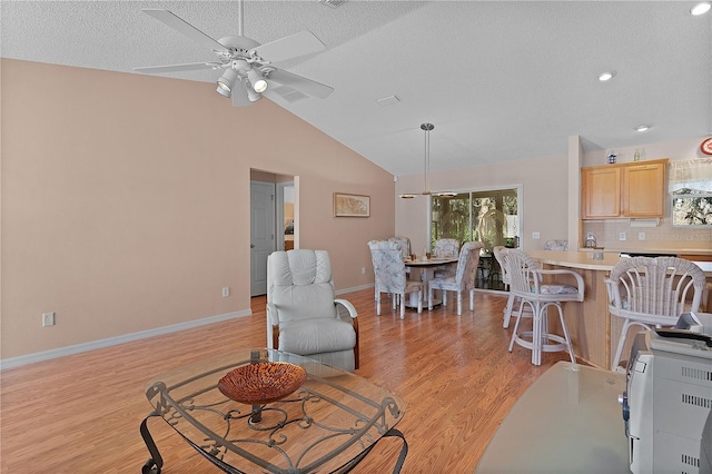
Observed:
[[[427,284],[427,308],[433,309],[433,290],[443,292],[443,306],[447,306],[447,292],[457,293],[457,315],[463,314],[463,292],[469,293],[469,310],[474,310],[475,302],[475,271],[479,264],[479,249],[484,247],[481,241],[468,241],[463,245],[457,259],[454,276],[435,276]]]

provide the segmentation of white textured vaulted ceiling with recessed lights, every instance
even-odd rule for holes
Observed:
[[[260,43],[308,30],[324,52],[276,66],[335,88],[285,109],[394,175],[712,134],[712,14],[690,1],[246,1]],[[141,12],[165,8],[212,38],[237,33],[235,1],[2,1],[3,58],[131,72],[214,60]],[[597,75],[617,72],[606,83]],[[165,75],[210,82],[207,70]],[[380,106],[379,98],[402,101]],[[175,100],[180,100],[176,97]],[[267,100],[267,99],[263,99]],[[233,107],[229,99],[225,107]],[[249,107],[235,108],[249,113]],[[636,132],[639,125],[650,131]]]

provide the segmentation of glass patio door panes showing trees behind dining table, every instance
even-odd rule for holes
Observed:
[[[520,237],[516,188],[433,196],[431,239],[481,240],[485,253],[495,246],[516,247]]]

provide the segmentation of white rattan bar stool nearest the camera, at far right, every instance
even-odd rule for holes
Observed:
[[[704,271],[676,257],[623,257],[605,284],[609,313],[623,318],[612,371],[619,371],[631,326],[645,330],[674,326],[681,314],[700,309],[706,289]]]

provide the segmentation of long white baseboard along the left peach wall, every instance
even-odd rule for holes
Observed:
[[[178,330],[190,329],[194,327],[205,326],[214,323],[221,323],[228,319],[250,316],[250,309],[241,312],[226,313],[224,315],[210,316],[201,319],[188,320],[185,323],[171,324],[170,326],[157,327],[154,329],[140,330],[138,333],[125,334],[122,336],[108,337],[106,339],[91,340],[89,343],[76,344],[73,346],[58,347],[56,349],[42,350],[39,353],[27,354],[17,357],[8,357],[0,359],[0,371],[7,368],[20,367],[22,365],[33,364],[36,362],[49,361],[57,357],[63,357],[71,354],[86,353],[88,350],[100,349],[103,347],[116,346],[117,344],[129,343],[148,337],[159,336],[161,334],[176,333]]]

